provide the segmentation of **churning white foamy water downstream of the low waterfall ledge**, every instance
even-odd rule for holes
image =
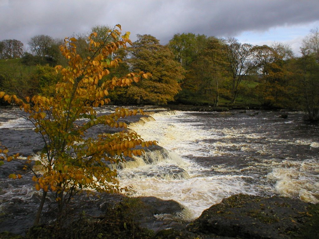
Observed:
[[[193,217],[237,193],[280,195],[318,202],[318,157],[306,156],[309,158],[296,161],[297,154],[289,158],[288,155],[294,153],[286,152],[290,145],[305,146],[309,150],[317,148],[318,135],[312,140],[285,139],[271,130],[266,132],[264,127],[295,124],[292,120],[279,121],[274,116],[259,119],[240,116],[245,117],[247,122],[229,118],[230,127],[225,127],[226,120],[220,118],[220,113],[210,113],[211,121],[198,120],[198,114],[195,117],[190,112],[173,112],[171,115],[155,113],[152,114],[154,120],[145,120],[143,124],[130,127],[145,140],[157,140],[170,155],[174,155],[160,163],[183,168],[189,178],[141,177],[141,171],[152,171],[156,166],[135,165],[141,170],[137,173],[139,176],[126,178],[123,171],[121,184],[132,185],[140,195],[174,199],[188,207]],[[208,113],[202,114],[207,118]],[[268,121],[270,126],[267,126]],[[225,162],[227,159],[233,162]],[[128,172],[131,169],[124,170]],[[134,170],[131,172],[134,174]]]

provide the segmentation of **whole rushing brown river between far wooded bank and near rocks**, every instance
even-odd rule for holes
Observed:
[[[32,125],[11,114],[15,111],[0,109],[0,141],[12,152],[36,152],[41,139]],[[120,184],[132,186],[134,195],[174,199],[188,209],[189,219],[237,193],[319,202],[319,126],[304,122],[302,112],[145,111],[150,117],[129,128],[163,149],[155,147],[121,165]],[[279,117],[283,113],[286,119]],[[23,181],[0,180],[6,184],[0,192],[3,203],[29,200],[34,193]]]

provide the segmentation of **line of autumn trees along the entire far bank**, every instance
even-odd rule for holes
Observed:
[[[103,39],[109,29],[98,25],[92,32]],[[76,37],[78,54],[87,56],[88,34]],[[24,76],[23,84],[28,87],[20,84],[21,93],[54,94],[54,87],[50,86],[55,85],[59,76],[50,67],[66,64],[59,51],[62,44],[61,39],[37,35],[28,42],[31,53],[27,53],[23,52],[23,44],[18,40],[0,42],[2,59],[19,58],[24,65],[37,65],[31,76]],[[119,58],[121,63],[105,77],[130,71],[152,74],[129,87],[110,91],[110,99],[115,104],[178,103],[215,107],[256,104],[268,108],[302,109],[308,112],[310,119],[317,119],[318,45],[318,28],[312,29],[304,38],[298,57],[283,43],[254,46],[235,38],[178,33],[164,46],[152,35],[137,35],[130,47],[109,56],[108,61]],[[17,93],[19,89],[14,89],[11,72],[2,71],[0,87]]]

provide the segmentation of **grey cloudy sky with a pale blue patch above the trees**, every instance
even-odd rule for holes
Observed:
[[[64,38],[95,25],[151,34],[166,44],[176,33],[235,37],[254,45],[283,42],[297,54],[319,27],[318,0],[0,0],[0,40],[27,45],[39,34]]]

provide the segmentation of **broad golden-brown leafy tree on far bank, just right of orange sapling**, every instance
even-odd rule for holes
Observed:
[[[166,104],[174,100],[184,78],[183,68],[174,60],[168,47],[160,45],[151,35],[137,35],[138,40],[129,48],[127,63],[135,72],[149,72],[152,76],[133,83],[127,89],[127,97],[137,104]]]

